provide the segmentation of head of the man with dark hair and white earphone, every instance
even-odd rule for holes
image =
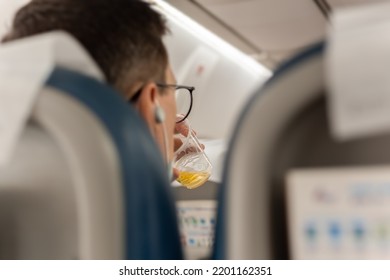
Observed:
[[[141,0],[32,0],[17,12],[3,42],[55,30],[85,47],[107,82],[135,105],[170,161],[176,81],[162,42],[167,27],[161,15]]]

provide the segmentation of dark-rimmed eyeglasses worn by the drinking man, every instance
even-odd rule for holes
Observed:
[[[184,121],[191,113],[192,109],[192,92],[195,90],[194,87],[182,86],[182,85],[170,85],[170,84],[156,84],[158,87],[174,88],[176,95],[176,110],[177,110],[177,119],[176,123]],[[179,117],[180,116],[180,117]]]

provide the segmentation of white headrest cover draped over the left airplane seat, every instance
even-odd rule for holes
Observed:
[[[62,32],[0,47],[0,166],[11,158],[34,101],[56,65],[103,79],[80,45]]]

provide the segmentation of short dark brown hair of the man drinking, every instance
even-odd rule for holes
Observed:
[[[165,81],[165,20],[142,0],[32,0],[3,42],[63,30],[81,42],[122,93],[137,82]]]

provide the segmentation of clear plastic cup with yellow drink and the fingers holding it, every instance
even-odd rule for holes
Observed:
[[[211,175],[212,166],[188,121],[180,123],[175,143],[180,145],[173,159],[173,167],[179,172],[176,180],[188,189],[203,185]]]

